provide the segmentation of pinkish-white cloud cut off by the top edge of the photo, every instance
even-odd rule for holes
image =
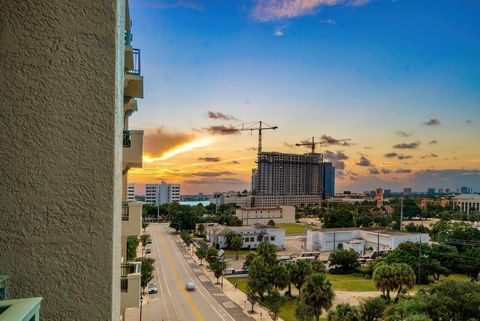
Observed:
[[[363,6],[371,0],[254,0],[252,17],[260,21],[288,19],[316,13],[320,7]]]

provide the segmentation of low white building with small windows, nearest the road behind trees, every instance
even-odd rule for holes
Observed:
[[[207,241],[221,249],[227,247],[227,235],[230,232],[236,232],[242,236],[242,249],[256,249],[263,241],[272,243],[279,250],[285,248],[284,229],[263,224],[249,226],[213,225],[205,228]]]

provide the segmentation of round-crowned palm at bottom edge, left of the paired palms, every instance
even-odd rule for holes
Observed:
[[[302,261],[298,261],[302,262]],[[315,273],[305,280],[299,295],[301,305],[307,306],[315,320],[320,320],[322,310],[328,311],[335,294],[324,273]]]

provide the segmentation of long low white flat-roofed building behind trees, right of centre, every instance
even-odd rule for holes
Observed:
[[[352,248],[359,254],[366,249],[393,250],[403,242],[427,243],[427,233],[407,233],[394,230],[371,230],[362,228],[331,228],[307,231],[308,251],[328,252]]]

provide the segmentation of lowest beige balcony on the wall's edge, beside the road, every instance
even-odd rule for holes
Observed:
[[[140,262],[129,262],[121,266],[120,290],[121,309],[138,308],[141,295],[141,266]]]

